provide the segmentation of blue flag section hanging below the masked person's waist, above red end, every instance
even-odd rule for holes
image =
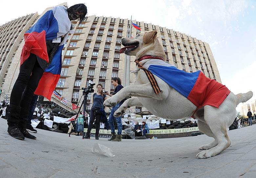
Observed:
[[[56,53],[53,56],[53,61],[51,62],[51,64],[49,65],[49,67],[47,67],[45,69],[45,72],[50,72],[54,75],[61,73],[61,52],[63,49],[64,45],[61,45],[58,47]]]

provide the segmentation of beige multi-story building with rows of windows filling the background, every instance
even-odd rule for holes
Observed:
[[[27,20],[28,18],[30,19]],[[9,71],[6,71],[8,65],[5,63],[1,65],[1,67],[5,67],[5,69],[1,70],[1,74],[4,70],[5,79],[0,78],[0,82],[2,83],[0,89],[2,93],[11,93],[11,88],[19,70],[20,52],[24,44],[22,36],[28,27],[34,23],[36,18],[38,18],[37,14],[27,16],[25,20],[26,28],[20,31],[18,35],[20,38],[16,40],[17,42],[14,39],[17,45],[14,48],[12,47],[14,49],[13,51],[9,51],[9,56],[13,56],[8,61],[8,65],[10,63]],[[25,19],[25,17],[22,19]],[[74,24],[75,33],[69,35],[62,51],[63,63],[61,77],[56,86],[56,91],[70,102],[77,104],[79,98],[82,96],[82,90],[80,88],[87,86],[89,80],[93,80],[95,83],[101,83],[105,90],[113,92],[115,88],[111,85],[111,78],[119,77],[121,80],[124,78],[125,54],[119,54],[119,50],[121,48],[121,39],[129,35],[131,21],[128,19],[97,17],[93,15],[89,16],[81,24],[77,21],[72,21],[72,23]],[[157,37],[165,51],[166,62],[186,72],[201,70],[207,77],[221,82],[209,44],[165,27],[137,21],[133,21],[133,23],[136,23],[141,28],[141,31],[132,28],[132,36],[150,30],[158,31]],[[2,31],[3,33],[8,33],[7,30],[16,25],[17,23],[14,24],[13,21],[3,25],[0,28],[0,37],[3,36]],[[13,32],[17,31],[18,29],[15,29],[15,31],[10,33],[12,35]],[[0,47],[3,46],[0,49],[7,48],[8,41],[3,40],[3,38],[0,40]],[[3,43],[4,45],[2,45]],[[0,56],[2,53],[6,54],[6,51],[1,51]],[[7,57],[5,55],[2,56]],[[1,59],[3,61],[4,58],[1,57]],[[130,71],[135,70],[136,65],[134,60],[135,57],[132,56]],[[8,80],[6,80],[7,78]],[[130,85],[133,84],[134,80],[135,75],[130,74]],[[91,96],[89,95],[87,100],[90,104],[92,103]],[[56,98],[55,100],[57,102]]]

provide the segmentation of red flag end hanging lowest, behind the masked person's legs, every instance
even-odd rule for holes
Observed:
[[[49,101],[51,101],[51,97],[53,94],[53,90],[55,89],[60,75],[54,75],[50,72],[45,72],[38,83],[38,86],[34,92],[36,95],[41,95],[46,97]]]

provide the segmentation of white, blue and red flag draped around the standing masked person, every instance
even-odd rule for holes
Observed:
[[[68,38],[71,22],[65,6],[56,6],[48,10],[25,34],[25,44],[22,48],[20,65],[25,62],[30,53],[49,62],[46,40],[53,40],[63,35],[64,39],[60,43],[53,60],[39,81],[38,87],[34,92],[36,95],[42,95],[51,100],[53,90],[59,80],[61,73],[61,52]]]

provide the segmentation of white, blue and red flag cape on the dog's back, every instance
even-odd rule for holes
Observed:
[[[230,93],[225,85],[205,77],[201,71],[184,72],[159,58],[147,58],[140,61],[139,64],[189,99],[197,106],[197,109],[205,105],[219,108]]]

